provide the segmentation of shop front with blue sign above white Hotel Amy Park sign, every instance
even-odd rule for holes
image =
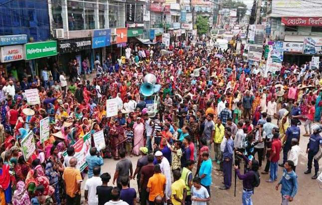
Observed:
[[[0,72],[8,77],[13,75],[16,80],[19,74],[27,68],[24,61],[23,44],[27,42],[27,35],[5,35],[0,36]],[[31,70],[27,69],[27,73],[31,74]]]

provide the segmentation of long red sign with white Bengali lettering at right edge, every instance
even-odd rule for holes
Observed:
[[[322,26],[322,17],[282,17],[285,25]]]

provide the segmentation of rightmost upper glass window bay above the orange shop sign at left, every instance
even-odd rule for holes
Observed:
[[[109,26],[110,28],[124,27],[124,3],[109,1]]]

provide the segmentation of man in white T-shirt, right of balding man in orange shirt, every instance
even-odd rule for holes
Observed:
[[[101,167],[96,166],[93,168],[94,176],[86,180],[85,183],[85,202],[88,205],[98,205],[98,196],[96,195],[96,188],[101,186],[102,179],[100,178]]]

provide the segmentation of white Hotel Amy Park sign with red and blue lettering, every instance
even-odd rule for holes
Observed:
[[[0,60],[2,63],[22,60],[23,59],[23,45],[9,45],[3,46],[0,49]]]

